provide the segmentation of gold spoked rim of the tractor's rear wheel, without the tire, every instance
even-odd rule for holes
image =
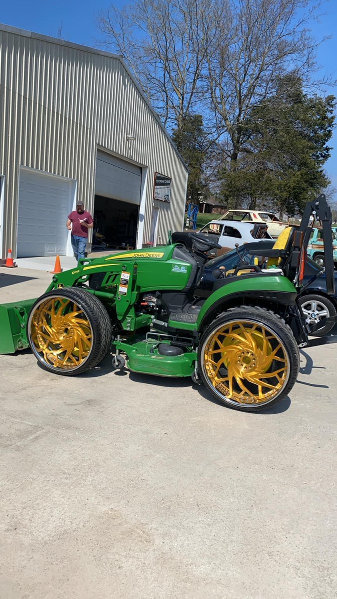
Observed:
[[[278,335],[254,320],[233,320],[204,343],[203,371],[216,394],[230,403],[263,404],[287,384],[287,350]]]

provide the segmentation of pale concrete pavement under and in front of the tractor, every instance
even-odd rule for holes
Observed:
[[[0,356],[1,598],[335,597],[335,341],[256,415],[109,357],[67,378]]]

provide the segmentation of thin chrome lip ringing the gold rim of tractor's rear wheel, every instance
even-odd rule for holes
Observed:
[[[279,343],[282,346],[282,349],[284,351],[284,354],[287,358],[287,364],[288,364],[288,368],[287,368],[287,375],[284,379],[284,384],[282,385],[281,389],[279,389],[278,393],[276,393],[276,395],[273,395],[273,397],[270,397],[268,400],[266,401],[259,401],[258,403],[255,404],[246,404],[246,403],[240,403],[239,401],[233,400],[231,398],[226,397],[225,395],[222,395],[222,393],[220,393],[218,391],[218,389],[216,389],[216,387],[214,385],[212,385],[212,383],[210,382],[209,376],[207,374],[207,370],[205,368],[205,361],[204,359],[202,359],[202,363],[201,363],[201,370],[203,371],[203,375],[205,380],[207,380],[207,384],[209,385],[209,387],[212,389],[212,391],[218,396],[218,398],[222,401],[222,403],[227,403],[230,404],[231,406],[244,406],[245,410],[254,410],[257,407],[263,407],[263,406],[267,406],[267,404],[269,404],[271,401],[275,401],[276,398],[279,397],[279,395],[281,395],[281,393],[283,392],[283,389],[285,388],[285,386],[288,383],[289,377],[290,377],[290,358],[289,358],[289,353],[287,351],[287,347],[285,347],[283,341],[281,340],[281,338],[279,337],[279,335],[276,333],[276,331],[274,331],[272,328],[270,328],[270,326],[265,325],[263,323],[260,322],[260,320],[255,319],[255,318],[251,318],[251,317],[246,317],[244,320],[244,322],[252,322],[254,324],[263,326],[265,329],[267,329],[267,331],[269,331],[270,333],[272,333],[273,335],[275,335],[275,337],[278,339]],[[213,331],[210,332],[209,335],[207,335],[206,339],[204,340],[204,343],[201,347],[201,356],[203,358],[204,353],[205,353],[205,349],[207,347],[207,344],[209,343],[210,337],[213,337],[214,334],[216,334],[216,331],[219,330],[219,328],[223,327],[223,326],[227,326],[230,325],[232,323],[236,323],[238,322],[237,319],[233,319],[233,320],[227,320],[226,322],[221,323],[221,325],[218,326],[217,329],[213,329]]]

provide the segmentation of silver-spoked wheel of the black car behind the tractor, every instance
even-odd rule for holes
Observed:
[[[330,322],[324,326],[326,318],[333,317],[336,320],[337,317],[336,308],[330,299],[324,297],[324,295],[308,294],[303,295],[299,302],[309,328],[311,325],[317,325],[320,322],[323,325],[322,328],[311,333],[313,337],[324,337],[332,331],[335,322]]]

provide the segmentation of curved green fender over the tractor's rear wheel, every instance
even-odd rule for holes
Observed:
[[[213,317],[222,306],[225,310],[225,305],[232,302],[233,299],[237,299],[237,305],[240,305],[240,300],[243,298],[294,305],[296,297],[297,292],[293,283],[284,276],[254,274],[237,277],[236,280],[230,282],[224,279],[224,285],[210,294],[198,313],[197,329],[199,330],[205,320]]]

